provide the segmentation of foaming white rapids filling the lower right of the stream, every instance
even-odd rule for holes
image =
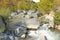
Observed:
[[[26,40],[60,40],[60,32],[47,27],[47,24],[44,24],[37,31],[30,31],[30,38]]]

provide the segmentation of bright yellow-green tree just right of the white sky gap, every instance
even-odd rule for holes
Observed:
[[[38,10],[40,10],[42,13],[49,13],[50,10],[53,9],[54,5],[51,0],[41,0],[38,5]]]

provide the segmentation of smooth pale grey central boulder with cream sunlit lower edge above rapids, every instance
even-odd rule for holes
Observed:
[[[40,26],[39,20],[36,18],[26,20],[27,27],[30,29],[37,29]]]

